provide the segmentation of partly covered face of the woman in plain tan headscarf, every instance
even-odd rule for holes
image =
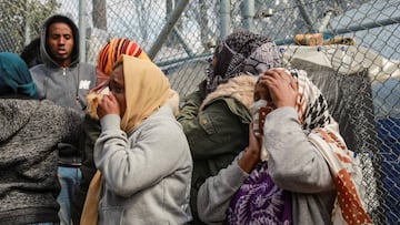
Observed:
[[[127,110],[127,101],[124,95],[124,78],[123,78],[123,67],[122,64],[118,65],[110,75],[110,92],[116,96],[117,102],[120,106],[122,117]]]

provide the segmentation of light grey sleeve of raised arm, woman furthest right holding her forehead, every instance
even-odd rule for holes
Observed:
[[[281,188],[320,193],[334,188],[329,166],[308,141],[293,108],[279,108],[266,117],[264,146],[272,181]]]

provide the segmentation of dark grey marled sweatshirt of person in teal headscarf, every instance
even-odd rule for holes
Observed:
[[[80,113],[50,101],[0,99],[0,221],[58,222],[57,144],[80,135]]]

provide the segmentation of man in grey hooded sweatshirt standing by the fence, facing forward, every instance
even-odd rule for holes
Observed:
[[[71,19],[56,14],[46,20],[41,31],[40,53],[43,64],[30,69],[40,99],[61,106],[83,110],[86,95],[96,84],[93,65],[79,62],[79,31]],[[59,168],[61,224],[70,224],[70,202],[80,181],[81,153],[77,146],[60,143]]]

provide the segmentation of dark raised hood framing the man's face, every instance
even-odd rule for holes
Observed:
[[[48,28],[51,23],[54,22],[64,22],[67,24],[69,24],[69,27],[72,29],[72,33],[73,33],[73,50],[72,50],[72,61],[71,64],[69,67],[72,67],[74,64],[77,64],[79,62],[79,30],[78,27],[74,24],[74,22],[66,16],[62,14],[53,14],[51,17],[49,17],[44,23],[43,27],[41,29],[41,37],[40,37],[40,55],[41,59],[43,60],[43,62],[48,65],[57,65],[59,67],[59,64],[51,59],[50,57],[50,52],[48,51],[47,48],[47,32],[48,32]]]

